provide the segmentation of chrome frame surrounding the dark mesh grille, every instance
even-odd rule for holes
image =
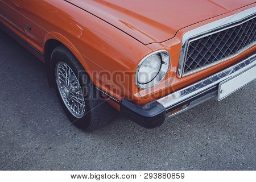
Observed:
[[[239,24],[245,23],[245,22],[249,21],[250,19],[255,18],[255,15],[256,15],[256,7],[252,7],[250,9],[241,11],[240,13],[228,16],[226,18],[205,24],[204,26],[201,26],[201,27],[195,28],[191,31],[185,32],[183,39],[182,39],[182,43],[181,43],[181,51],[180,51],[179,65],[178,65],[178,69],[177,69],[177,77],[181,78],[183,76],[188,76],[188,75],[191,75],[192,73],[199,72],[202,69],[212,67],[213,65],[219,64],[228,59],[232,59],[233,57],[236,57],[237,55],[239,55],[241,52],[245,51],[246,49],[253,47],[255,45],[255,43],[250,44],[249,46],[241,49],[239,52],[237,52],[234,55],[225,57],[225,59],[216,61],[213,64],[209,64],[205,67],[201,67],[199,69],[193,70],[192,72],[188,72],[188,73],[184,74],[184,64],[185,64],[185,59],[187,57],[188,45],[190,42],[197,40],[197,39],[201,39],[205,36],[216,34],[217,32],[226,30],[228,28],[238,26]],[[251,18],[249,18],[250,16],[251,16]],[[241,22],[241,21],[243,21],[243,22]],[[241,22],[241,23],[236,24],[237,22]]]

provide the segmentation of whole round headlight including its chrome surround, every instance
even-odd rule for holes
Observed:
[[[136,84],[139,88],[148,88],[166,77],[170,65],[167,51],[161,50],[144,57],[136,71]]]

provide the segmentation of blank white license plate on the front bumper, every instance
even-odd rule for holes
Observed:
[[[253,81],[255,78],[256,67],[253,67],[236,77],[220,82],[220,85],[218,86],[218,101],[228,97],[230,94],[236,92],[236,90],[242,88],[242,86],[249,84],[249,82]]]

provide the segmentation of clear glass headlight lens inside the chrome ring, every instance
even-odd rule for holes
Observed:
[[[138,72],[139,84],[146,84],[152,81],[161,68],[161,59],[159,55],[152,55],[143,61]]]

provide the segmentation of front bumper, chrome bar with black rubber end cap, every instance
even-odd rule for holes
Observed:
[[[166,118],[174,117],[212,97],[218,96],[220,98],[220,94],[225,90],[220,90],[219,85],[241,75],[247,76],[244,79],[242,78],[243,85],[255,80],[256,54],[247,57],[247,59],[232,67],[146,105],[135,105],[127,100],[122,100],[121,113],[138,125],[152,129],[162,125]],[[244,83],[244,80],[247,80],[247,82]]]

